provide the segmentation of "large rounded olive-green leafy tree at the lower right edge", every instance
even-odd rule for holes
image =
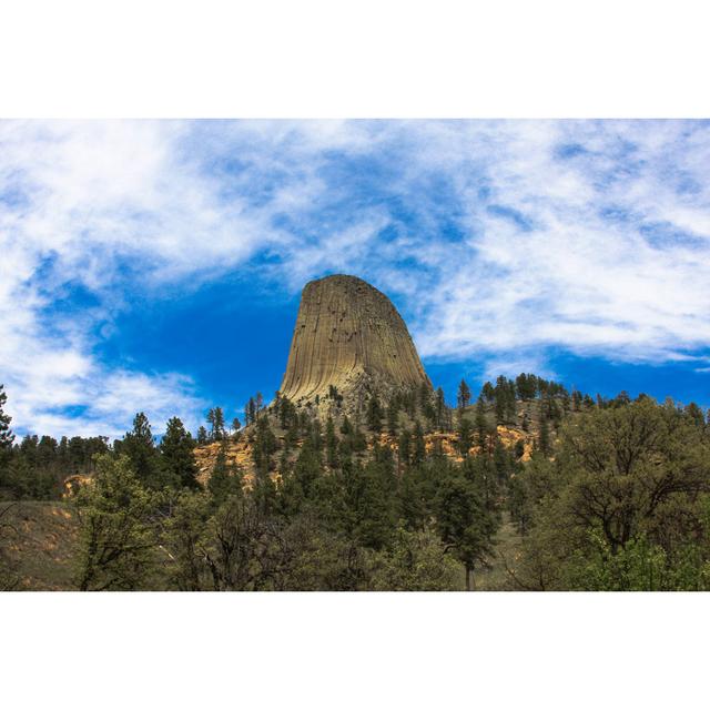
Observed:
[[[621,398],[568,422],[554,462],[516,476],[527,532],[518,582],[537,589],[704,589],[710,442],[692,416]]]

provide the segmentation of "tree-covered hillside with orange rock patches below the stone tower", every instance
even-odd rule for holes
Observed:
[[[257,395],[245,413],[227,428],[215,407],[195,438],[173,418],[160,442],[139,414],[113,444],[17,442],[0,414],[0,584],[710,587],[710,427],[694,404],[592,398],[523,374],[475,399],[462,381],[454,407],[422,387],[371,393],[353,414],[333,387],[317,406]],[[55,584],[18,574],[39,525],[18,535],[18,501],[62,496],[71,565],[63,555]]]

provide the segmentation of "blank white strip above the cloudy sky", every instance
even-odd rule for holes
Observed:
[[[0,115],[710,115],[697,0],[22,0]]]

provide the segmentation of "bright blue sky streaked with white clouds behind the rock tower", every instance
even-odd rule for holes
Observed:
[[[436,385],[521,371],[710,405],[710,123],[0,122],[0,382],[19,433],[193,429],[362,276]]]

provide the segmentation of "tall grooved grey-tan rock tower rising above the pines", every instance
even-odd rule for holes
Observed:
[[[355,276],[306,284],[281,393],[304,404],[323,399],[331,386],[346,409],[369,392],[430,388],[407,326],[383,293]]]

